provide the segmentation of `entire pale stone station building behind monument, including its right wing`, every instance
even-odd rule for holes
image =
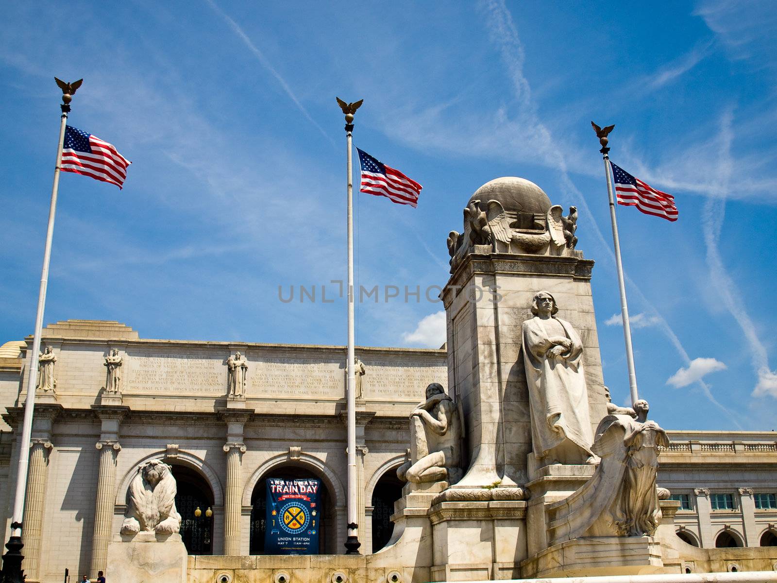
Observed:
[[[7,339],[5,339],[7,340]],[[0,523],[9,532],[32,337],[0,347]],[[27,581],[105,568],[138,465],[172,466],[190,554],[262,554],[265,481],[322,483],[319,552],[347,536],[344,347],[151,340],[117,322],[43,330],[54,354],[37,393],[24,518]],[[117,351],[116,385],[106,357]],[[230,397],[227,359],[247,361]],[[448,351],[357,347],[361,552],[389,541],[409,413],[430,382],[448,387]],[[113,390],[113,388],[117,390]],[[455,397],[455,396],[454,396]],[[594,425],[598,420],[591,420]],[[694,546],[777,546],[777,433],[668,431],[658,484],[680,501],[677,536]]]

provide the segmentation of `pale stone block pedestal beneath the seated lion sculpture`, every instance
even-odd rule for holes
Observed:
[[[121,583],[186,583],[187,560],[179,534],[116,535],[108,546],[105,575]]]

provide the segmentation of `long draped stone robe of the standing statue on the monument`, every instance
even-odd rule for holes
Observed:
[[[594,435],[583,371],[583,342],[569,322],[555,317],[552,320],[562,326],[565,336],[572,341],[570,350],[556,359],[546,356],[547,351],[557,345],[552,339],[558,336],[546,324],[550,319],[535,316],[523,323],[534,453],[538,458],[545,457],[569,440],[582,450],[581,454],[593,456]]]

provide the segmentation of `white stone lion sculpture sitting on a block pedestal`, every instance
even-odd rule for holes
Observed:
[[[170,466],[159,459],[138,467],[130,484],[121,534],[179,532],[181,515],[176,511],[176,479],[170,470]]]

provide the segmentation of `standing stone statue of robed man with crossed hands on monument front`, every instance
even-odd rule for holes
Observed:
[[[583,342],[569,322],[556,318],[556,300],[537,292],[534,317],[523,323],[531,411],[531,443],[542,465],[597,462],[583,370]]]

